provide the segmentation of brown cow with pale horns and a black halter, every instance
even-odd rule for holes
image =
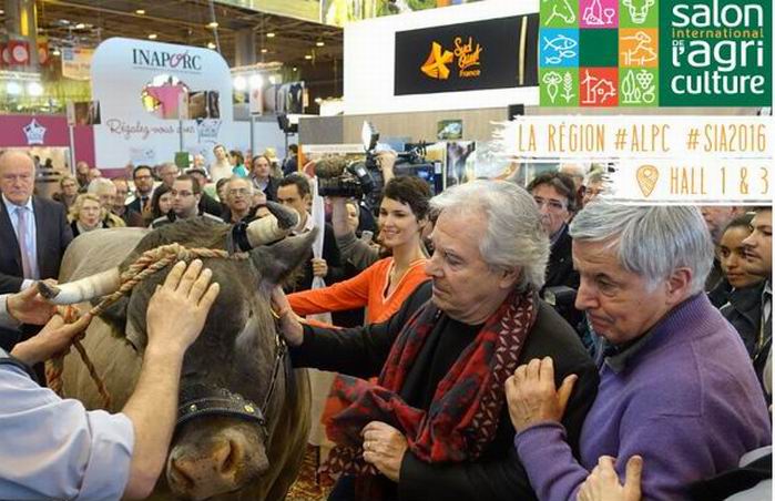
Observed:
[[[289,217],[276,214],[275,231],[277,221],[283,226],[283,217]],[[144,250],[170,243],[225,249],[231,229],[195,218],[153,232],[86,233],[64,256],[60,284],[71,283],[50,294],[58,303],[104,295],[116,288],[119,270]],[[255,242],[249,227],[247,236]],[[278,356],[269,294],[306,258],[313,237],[258,246],[244,260],[203,259],[213,270],[213,282],[221,284],[221,294],[185,355],[179,423],[166,476],[152,499],[279,500],[296,479],[309,430],[309,384],[306,371],[293,370],[287,356]],[[132,393],[145,348],[147,301],[169,269],[142,282],[95,318],[83,340],[111,392],[110,411],[121,410]],[[94,382],[78,356],[65,358],[63,380],[67,396],[89,408],[100,407]]]

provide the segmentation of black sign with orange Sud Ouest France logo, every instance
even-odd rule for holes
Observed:
[[[534,86],[538,14],[396,32],[395,94]]]

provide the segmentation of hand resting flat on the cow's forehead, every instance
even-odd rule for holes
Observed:
[[[221,292],[210,284],[213,273],[194,259],[172,267],[164,285],[149,300],[146,323],[149,346],[157,342],[185,351],[202,333],[210,308]]]

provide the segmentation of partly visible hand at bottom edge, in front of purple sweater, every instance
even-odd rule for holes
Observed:
[[[643,459],[633,456],[628,460],[624,485],[619,483],[613,458],[601,456],[598,466],[587,477],[579,490],[578,501],[640,501]]]

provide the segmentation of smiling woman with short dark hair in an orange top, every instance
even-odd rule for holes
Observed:
[[[428,279],[420,234],[427,223],[429,201],[430,188],[419,177],[391,178],[385,185],[378,225],[381,244],[392,256],[348,280],[289,295],[293,310],[305,316],[366,307],[368,324],[386,320],[398,311],[417,286]]]

